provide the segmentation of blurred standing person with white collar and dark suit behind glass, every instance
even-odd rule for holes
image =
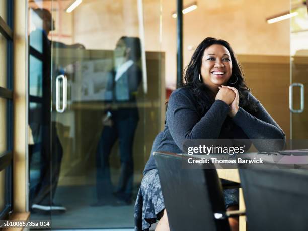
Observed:
[[[122,36],[114,50],[114,69],[109,73],[107,90],[112,91],[110,108],[97,147],[97,199],[93,206],[131,204],[133,188],[133,139],[139,120],[136,93],[142,80],[139,67],[141,44],[137,37]],[[120,177],[113,191],[109,156],[119,139]]]

